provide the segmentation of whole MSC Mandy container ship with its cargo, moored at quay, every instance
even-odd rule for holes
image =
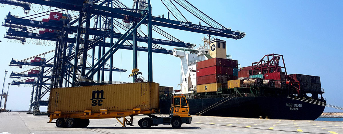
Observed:
[[[174,49],[181,59],[180,84],[175,90],[160,87],[161,113],[169,113],[172,94],[188,96],[191,115],[315,120],[323,112],[320,77],[287,74],[283,55],[240,67],[226,54],[226,41],[203,41],[198,49]]]

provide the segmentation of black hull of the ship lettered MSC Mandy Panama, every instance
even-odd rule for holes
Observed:
[[[219,102],[223,98],[189,99],[189,113],[196,113]],[[161,100],[161,113],[169,113],[170,101]],[[319,106],[299,100],[283,97],[235,97],[216,106],[201,115],[225,116],[289,120],[315,120],[324,111],[325,106]]]

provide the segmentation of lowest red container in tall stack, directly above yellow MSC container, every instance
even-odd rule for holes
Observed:
[[[208,75],[197,77],[197,85],[209,83],[227,83],[227,76],[225,75]]]

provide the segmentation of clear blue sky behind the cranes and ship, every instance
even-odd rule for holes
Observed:
[[[266,54],[282,54],[288,74],[301,73],[320,76],[322,88],[325,89],[324,97],[329,104],[343,107],[343,90],[341,89],[342,66],[342,1],[224,1],[224,0],[189,0],[198,9],[211,16],[225,27],[232,30],[246,32],[247,36],[240,40],[224,39],[227,41],[227,53],[238,60],[241,66],[249,66],[257,62]],[[131,7],[132,1],[124,2]],[[3,4],[1,4],[3,6]],[[38,7],[38,5],[35,5]],[[15,6],[12,6],[13,8]],[[153,15],[167,14],[166,8],[159,0],[152,0]],[[47,9],[47,7],[45,7]],[[37,9],[35,9],[36,11]],[[12,14],[23,14],[21,8],[12,9],[6,5],[0,8],[4,18],[8,11]],[[40,9],[42,12],[42,9]],[[199,20],[185,10],[181,10],[186,18],[197,24]],[[30,15],[34,11],[30,11]],[[171,17],[174,19],[173,17]],[[41,18],[39,18],[41,19]],[[38,19],[37,19],[38,20]],[[3,22],[4,20],[2,20]],[[202,23],[204,24],[204,23]],[[145,27],[141,27],[145,30]],[[6,28],[0,28],[0,35],[5,35]],[[163,28],[169,34],[185,42],[202,44],[203,34],[186,32],[177,29]],[[153,34],[153,38],[165,39]],[[2,82],[3,70],[21,72],[18,68],[8,66],[11,58],[25,59],[49,50],[54,46],[42,46],[32,43],[13,43],[0,36],[2,49],[0,50],[2,62],[0,63],[0,80]],[[146,43],[140,43],[146,46]],[[174,47],[163,46],[167,49]],[[46,55],[49,57],[51,55]],[[164,86],[174,86],[180,82],[180,59],[166,54],[153,54],[154,82]],[[147,79],[147,55],[140,52],[139,68],[143,77]],[[114,66],[127,69],[125,73],[114,73],[116,81],[131,81],[128,78],[132,69],[132,51],[119,50],[115,54]],[[7,83],[12,81],[7,78]],[[2,83],[1,83],[2,85]],[[10,87],[8,108],[27,109],[31,94],[30,87]],[[41,109],[45,110],[45,109]],[[326,112],[343,112],[326,108]]]

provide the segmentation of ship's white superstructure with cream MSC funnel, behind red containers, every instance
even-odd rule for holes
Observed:
[[[226,41],[216,38],[209,40],[203,38],[204,45],[196,49],[174,49],[173,56],[181,59],[180,84],[174,94],[194,97],[197,88],[197,62],[215,57],[231,59],[230,55],[226,55]]]

